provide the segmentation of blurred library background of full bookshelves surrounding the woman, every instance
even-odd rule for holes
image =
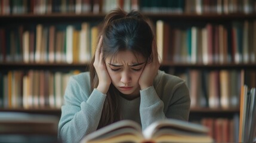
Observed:
[[[159,69],[189,88],[189,122],[256,142],[255,0],[1,0],[0,142],[60,142],[69,77],[88,71],[118,7],[149,18]]]

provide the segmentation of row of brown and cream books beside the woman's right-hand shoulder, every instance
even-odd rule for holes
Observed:
[[[239,108],[241,86],[255,86],[256,71],[250,70],[184,70],[169,71],[186,81],[191,108]]]

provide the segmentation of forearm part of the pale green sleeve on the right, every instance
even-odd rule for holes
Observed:
[[[166,118],[163,110],[164,103],[156,94],[153,86],[141,90],[140,98],[140,118],[143,130],[153,122]]]

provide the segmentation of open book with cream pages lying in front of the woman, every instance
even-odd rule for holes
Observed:
[[[145,130],[131,120],[121,120],[82,139],[92,142],[214,142],[205,126],[175,119],[155,122]]]

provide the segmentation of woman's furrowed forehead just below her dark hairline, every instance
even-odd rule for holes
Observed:
[[[112,57],[106,58],[107,63],[118,63],[118,64],[134,64],[142,63],[145,58],[141,54],[136,54],[131,51],[119,51]]]

